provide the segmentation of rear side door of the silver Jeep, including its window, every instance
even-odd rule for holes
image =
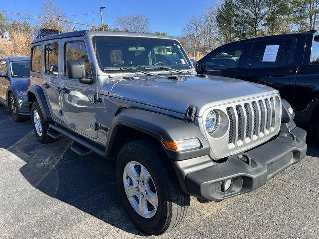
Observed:
[[[47,102],[50,102],[50,111],[53,119],[62,122],[60,95],[59,92],[59,78],[61,74],[61,53],[59,53],[59,40],[46,41],[44,43],[44,74],[42,89],[46,92],[45,97]]]

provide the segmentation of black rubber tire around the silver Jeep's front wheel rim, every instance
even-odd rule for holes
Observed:
[[[124,169],[132,161],[142,164],[154,182],[158,207],[151,218],[137,213],[126,196]],[[182,191],[169,159],[155,141],[142,139],[125,145],[118,155],[115,174],[120,200],[132,221],[144,232],[160,235],[176,228],[185,219],[190,196]]]

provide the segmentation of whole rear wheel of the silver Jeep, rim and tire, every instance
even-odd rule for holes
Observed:
[[[53,138],[47,135],[49,122],[44,119],[41,108],[37,101],[33,102],[32,104],[31,119],[35,136],[40,143],[47,144],[55,141]]]

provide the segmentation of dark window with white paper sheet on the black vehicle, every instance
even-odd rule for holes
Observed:
[[[278,66],[283,43],[284,39],[255,41],[248,58],[247,68]]]

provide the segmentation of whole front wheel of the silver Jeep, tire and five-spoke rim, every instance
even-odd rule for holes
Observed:
[[[136,140],[121,149],[116,184],[128,215],[144,232],[163,234],[186,216],[190,196],[182,191],[166,155],[152,140]]]

